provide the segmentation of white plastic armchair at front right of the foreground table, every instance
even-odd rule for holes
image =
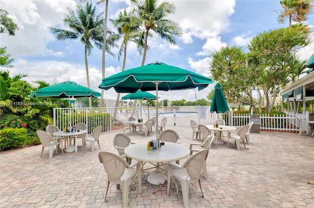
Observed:
[[[189,191],[189,183],[198,181],[202,196],[204,197],[202,186],[201,186],[201,179],[200,175],[204,166],[204,162],[208,156],[208,150],[202,150],[195,155],[192,155],[189,157],[184,164],[178,165],[174,162],[168,162],[168,187],[167,187],[167,194],[169,196],[169,188],[170,188],[170,180],[174,181],[173,177],[176,177],[181,182],[182,187],[182,195],[183,195],[183,205],[185,208],[188,207],[188,191]],[[176,167],[178,169],[172,170],[172,167]],[[171,177],[171,178],[170,178]],[[177,193],[178,185],[174,181],[176,187],[177,187]]]

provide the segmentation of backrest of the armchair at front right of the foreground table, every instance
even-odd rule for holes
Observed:
[[[208,153],[208,150],[202,150],[195,155],[192,155],[183,164],[183,168],[186,168],[187,174],[192,179],[197,179],[200,176],[203,169],[203,164],[208,156]]]

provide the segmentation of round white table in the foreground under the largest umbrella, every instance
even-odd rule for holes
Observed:
[[[147,150],[147,142],[140,142],[128,146],[124,153],[126,156],[144,162],[171,162],[183,159],[190,155],[190,149],[182,144],[165,142],[164,145],[154,150]],[[147,181],[154,185],[163,184],[167,177],[159,167],[151,173]]]

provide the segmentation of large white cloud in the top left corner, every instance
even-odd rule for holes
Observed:
[[[74,7],[74,0],[1,0],[19,30],[15,36],[1,34],[1,47],[13,58],[21,55],[45,55],[47,43],[55,39],[50,26],[63,23],[67,7]]]

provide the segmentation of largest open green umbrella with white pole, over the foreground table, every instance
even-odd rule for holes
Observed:
[[[158,139],[158,91],[206,88],[211,78],[161,62],[150,63],[104,78],[99,88],[111,87],[118,93],[156,90],[156,139]]]

